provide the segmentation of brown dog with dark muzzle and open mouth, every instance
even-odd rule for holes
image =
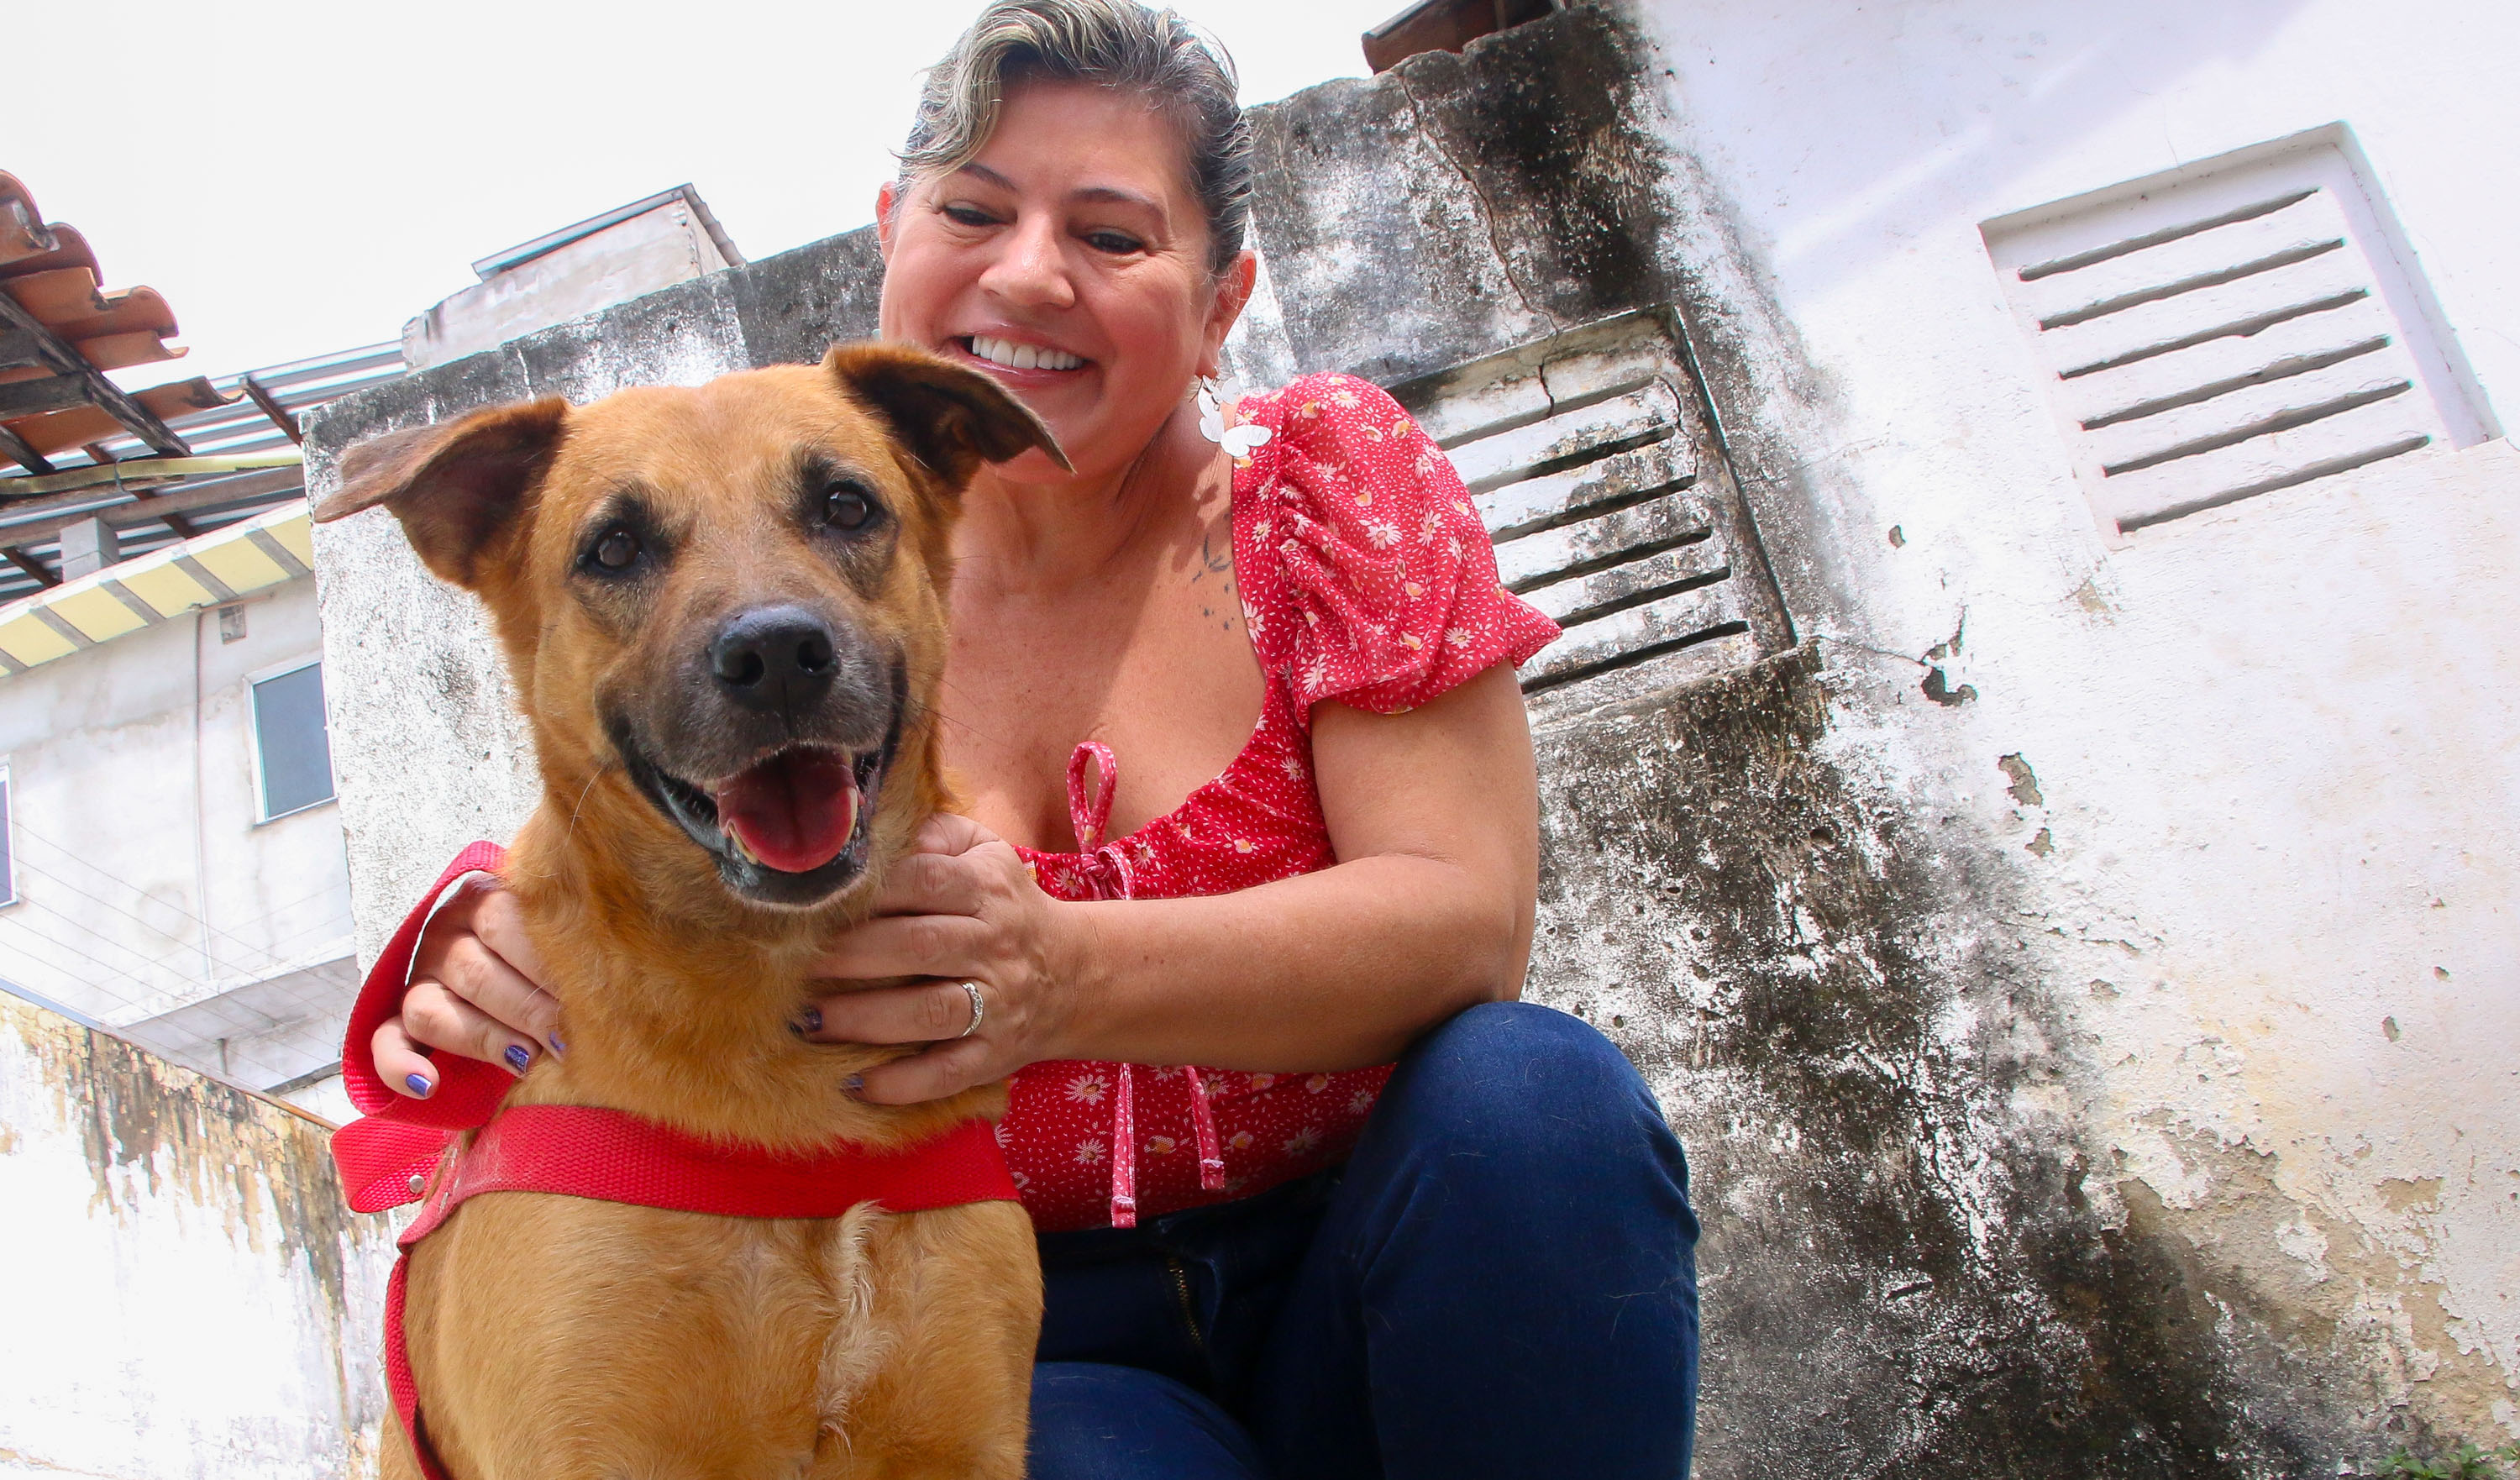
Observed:
[[[489,605],[542,761],[509,860],[567,1056],[509,1104],[776,1150],[897,1147],[1003,1087],[887,1109],[900,1049],[789,1031],[806,963],[945,804],[948,532],[1051,434],[920,350],[534,401],[343,456]],[[1013,1203],[746,1220],[491,1193],[413,1248],[408,1351],[456,1480],[1023,1475],[1041,1324]],[[413,1475],[388,1435],[386,1472]]]

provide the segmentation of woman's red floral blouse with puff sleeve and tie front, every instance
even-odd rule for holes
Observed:
[[[1270,434],[1237,459],[1232,492],[1235,580],[1268,673],[1260,724],[1225,774],[1109,840],[1116,761],[1076,746],[1068,812],[1086,852],[1023,850],[1056,898],[1222,895],[1331,867],[1313,703],[1401,714],[1557,635],[1497,585],[1459,474],[1371,381],[1305,376],[1227,421]],[[1056,1059],[1016,1074],[998,1142],[1038,1228],[1129,1225],[1341,1160],[1389,1074]]]

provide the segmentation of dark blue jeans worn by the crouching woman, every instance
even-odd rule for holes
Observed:
[[[1681,1145],[1588,1024],[1484,1003],[1348,1165],[1048,1233],[1033,1480],[1681,1480],[1698,1389]]]

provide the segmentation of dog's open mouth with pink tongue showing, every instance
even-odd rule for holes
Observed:
[[[731,777],[685,782],[627,734],[630,779],[718,862],[726,887],[769,905],[816,905],[867,867],[867,830],[900,731],[872,751],[791,744]]]

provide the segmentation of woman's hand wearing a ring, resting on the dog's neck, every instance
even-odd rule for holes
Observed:
[[[879,981],[937,976],[917,986],[867,986],[819,998],[806,1016],[816,1044],[930,1044],[867,1069],[859,1094],[874,1104],[942,1099],[1058,1059],[1074,998],[1081,928],[1033,885],[1013,845],[970,817],[932,817],[915,850],[892,865],[877,918],[842,935],[814,976]],[[980,1026],[970,993],[980,988]],[[811,1016],[819,1014],[819,1021]]]

